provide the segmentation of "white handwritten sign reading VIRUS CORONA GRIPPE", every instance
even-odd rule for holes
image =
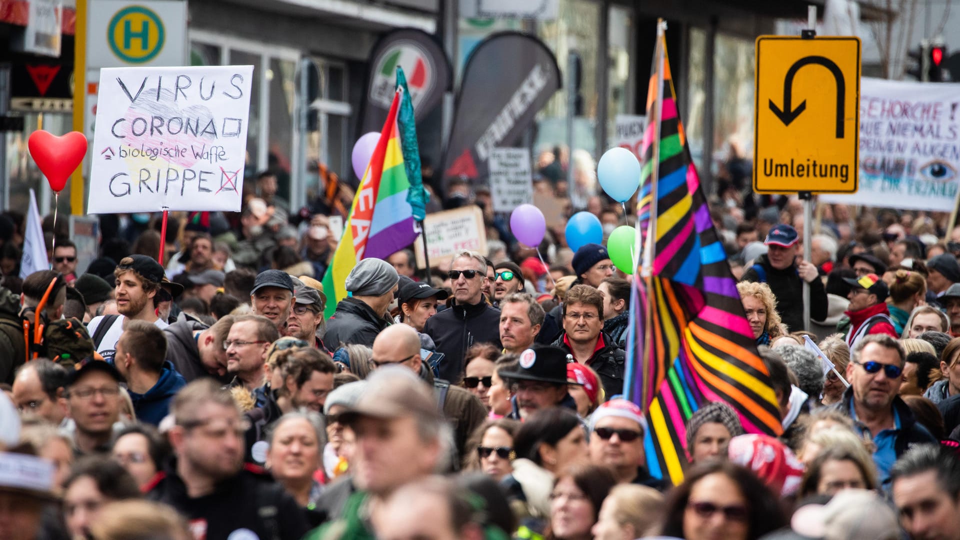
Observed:
[[[102,69],[87,211],[240,211],[252,72]]]

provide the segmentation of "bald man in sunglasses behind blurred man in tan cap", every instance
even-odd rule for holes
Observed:
[[[390,364],[408,367],[434,385],[437,395],[444,400],[444,417],[454,431],[457,452],[463,456],[470,433],[487,419],[487,407],[466,388],[433,379],[430,370],[423,365],[417,331],[407,325],[387,327],[373,340],[371,361],[374,369]]]

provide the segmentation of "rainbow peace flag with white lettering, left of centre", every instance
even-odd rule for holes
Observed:
[[[410,182],[403,166],[403,149],[396,127],[399,105],[400,92],[396,92],[367,172],[353,197],[344,235],[324,274],[327,297],[324,316],[327,318],[347,296],[344,282],[357,261],[368,257],[388,258],[417,240],[413,209],[407,202]]]

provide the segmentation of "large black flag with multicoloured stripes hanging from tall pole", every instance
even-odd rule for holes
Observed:
[[[636,264],[625,391],[647,411],[647,464],[684,479],[686,421],[700,405],[726,402],[744,430],[779,434],[780,414],[723,244],[690,159],[658,29],[647,95]],[[639,250],[638,250],[639,251]]]

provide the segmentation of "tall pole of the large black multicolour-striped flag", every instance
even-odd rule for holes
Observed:
[[[644,246],[644,255],[643,255],[643,271],[642,276],[646,282],[646,287],[648,291],[653,291],[653,263],[655,252],[657,250],[657,184],[660,181],[660,118],[662,117],[663,111],[663,64],[665,63],[664,56],[664,31],[666,30],[666,22],[663,19],[657,20],[657,97],[656,105],[654,107],[655,118],[653,119],[654,123],[654,134],[653,134],[653,163],[651,164],[651,178],[650,178],[650,217],[649,225],[647,226],[647,240],[646,246]],[[654,339],[654,307],[651,302],[651,296],[647,296],[647,319],[646,324],[644,325],[644,339],[643,339],[643,361],[652,362],[654,359],[651,357],[653,352],[653,339]],[[649,373],[649,370],[644,370],[644,373]],[[643,406],[647,406],[650,403],[650,400],[653,398],[653,395],[656,393],[656,389],[650,388],[648,384],[643,385],[644,396],[643,396]],[[647,395],[649,392],[654,392],[653,395]]]

